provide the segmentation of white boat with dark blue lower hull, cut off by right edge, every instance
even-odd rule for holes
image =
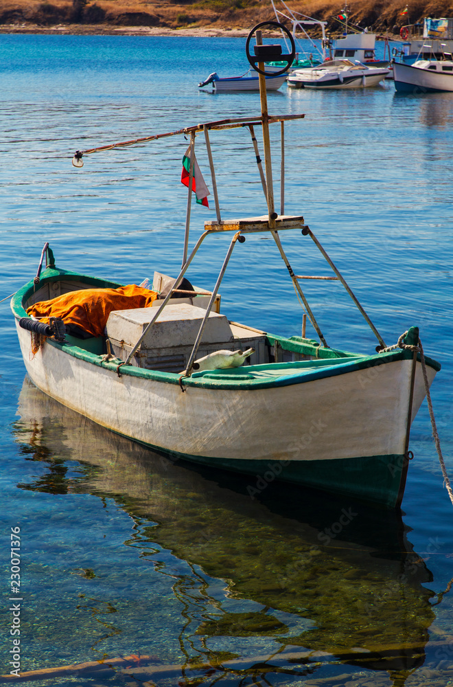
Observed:
[[[416,60],[413,65],[395,62],[395,89],[402,93],[453,91],[453,60]]]

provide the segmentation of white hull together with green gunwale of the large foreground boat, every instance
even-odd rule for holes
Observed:
[[[51,265],[38,292],[32,281],[12,301],[23,360],[40,390],[104,427],[181,458],[253,475],[271,471],[391,506],[402,497],[413,354],[351,354],[230,324],[230,347],[261,345],[258,362],[193,372],[183,393],[182,369],[118,370],[119,359],[106,360],[103,337],[48,338],[33,353],[32,333],[19,326],[25,308],[32,300],[88,286],[118,285]],[[174,355],[178,341],[172,343],[161,356]],[[225,345],[218,343],[222,350]],[[275,351],[281,362],[271,362]],[[428,359],[430,382],[438,369]],[[417,363],[412,417],[424,395]]]

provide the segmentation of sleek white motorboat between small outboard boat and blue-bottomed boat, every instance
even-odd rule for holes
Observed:
[[[297,69],[288,76],[291,88],[347,89],[377,86],[390,74],[385,67],[369,67],[351,60],[327,60],[312,69]]]

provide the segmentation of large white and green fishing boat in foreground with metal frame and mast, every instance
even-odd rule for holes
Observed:
[[[63,405],[163,453],[252,475],[252,489],[281,479],[399,505],[411,457],[410,424],[426,394],[422,372],[429,385],[440,365],[423,357],[415,327],[397,345],[386,347],[303,216],[285,214],[283,165],[281,207],[279,214],[275,211],[269,128],[280,124],[283,150],[285,122],[300,123],[304,115],[268,113],[264,61],[272,46],[265,50],[257,33],[255,57],[248,52],[259,27],[247,41],[248,59],[258,64],[260,75],[259,115],[78,151],[73,160],[81,167],[82,157],[97,150],[168,135],[190,137],[183,161],[189,193],[183,260],[176,280],[157,273],[153,289],[121,286],[58,267],[46,244],[36,277],[12,299],[23,361],[34,384]],[[292,54],[283,59],[293,56],[294,43]],[[257,126],[263,132],[264,169]],[[224,218],[210,135],[244,128],[257,159],[264,214]],[[205,222],[189,254],[193,190],[201,194],[198,200],[207,192],[195,158],[196,133],[205,135],[216,219]],[[286,232],[301,232],[302,242],[313,241],[332,276],[297,274],[281,243]],[[232,238],[213,290],[183,283],[200,246],[228,234]],[[305,336],[305,326],[302,336],[286,337],[233,322],[221,312],[222,279],[233,250],[249,234],[272,239],[316,339]],[[41,273],[44,256],[47,266]],[[347,352],[327,343],[301,289],[304,279],[326,278],[345,286],[377,338],[378,352]],[[237,284],[242,294],[244,285],[244,280]],[[179,300],[171,300],[174,296]],[[272,302],[275,285],[262,297]]]

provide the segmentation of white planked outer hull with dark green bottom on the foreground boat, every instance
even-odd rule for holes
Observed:
[[[386,506],[402,497],[411,359],[280,387],[205,382],[183,393],[139,368],[119,376],[49,339],[32,354],[30,332],[17,330],[41,391],[153,449],[248,473],[251,496],[283,479]],[[413,417],[425,395],[420,363],[416,372]],[[434,374],[428,367],[430,382]]]

